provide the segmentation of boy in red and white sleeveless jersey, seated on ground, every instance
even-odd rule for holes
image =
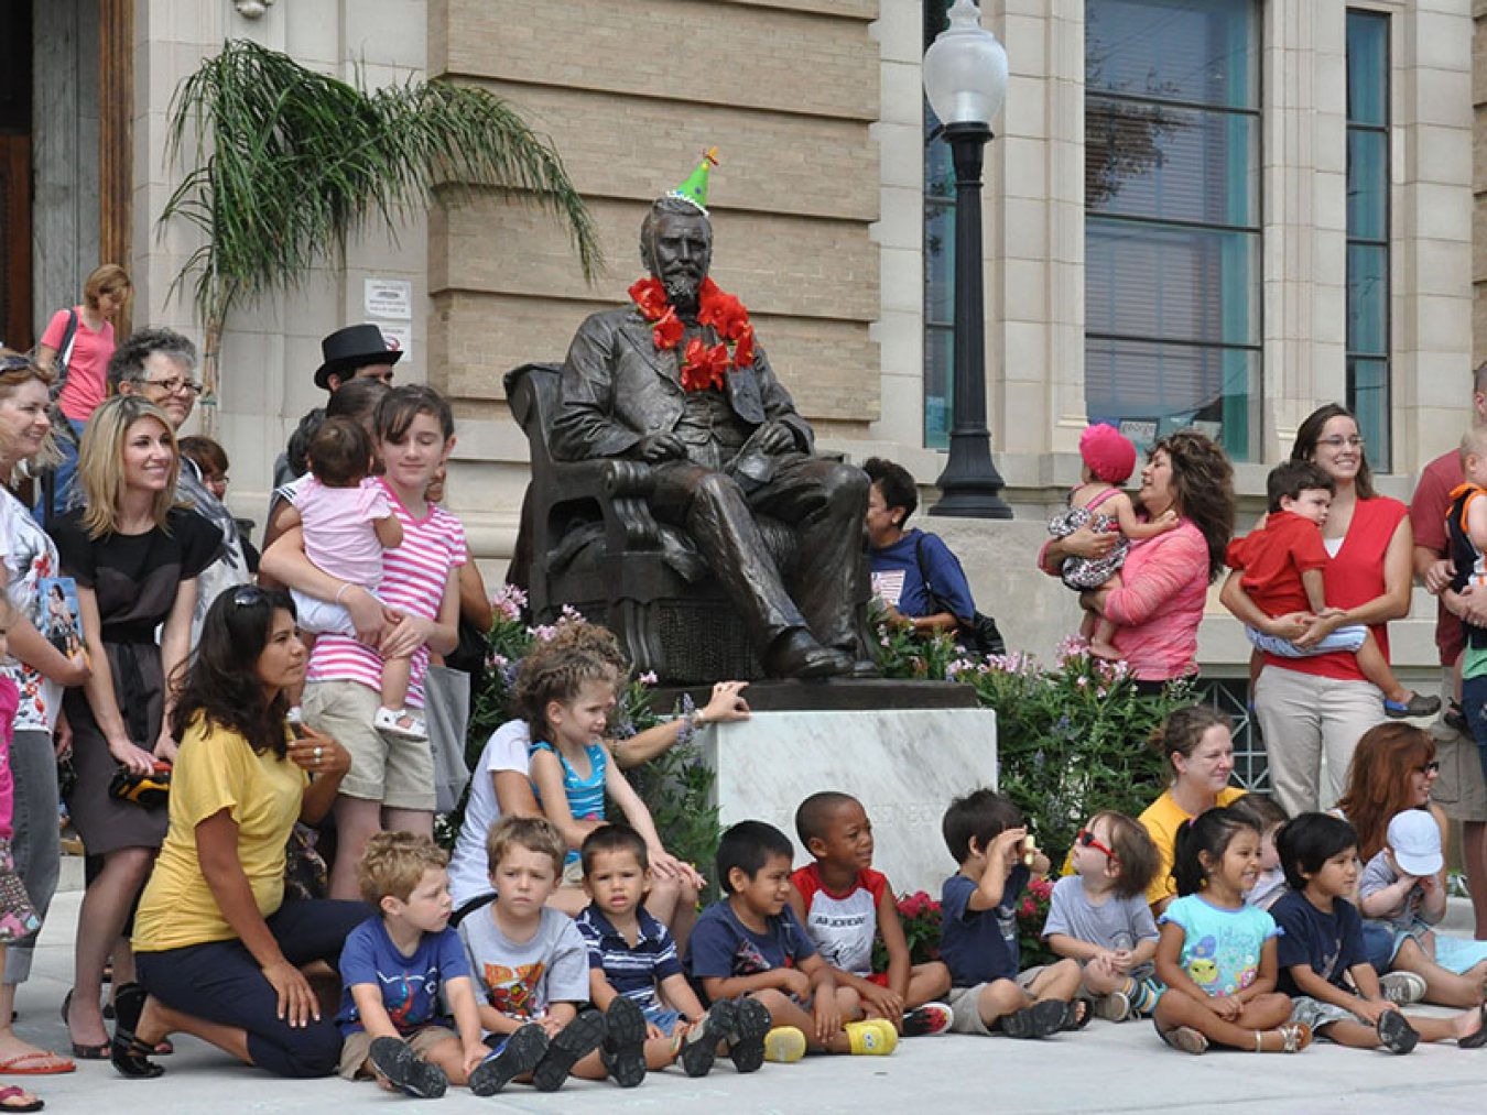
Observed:
[[[873,870],[873,822],[862,803],[836,791],[812,794],[796,810],[796,833],[815,862],[790,876],[790,908],[837,986],[855,990],[870,1017],[886,1018],[907,1036],[949,1030],[950,1008],[932,1001],[950,990],[950,969],[938,960],[910,962],[894,891]],[[886,972],[873,971],[879,935]]]

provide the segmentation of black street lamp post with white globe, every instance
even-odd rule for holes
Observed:
[[[955,164],[955,409],[950,455],[935,482],[941,498],[929,514],[1011,519],[986,427],[981,282],[981,164],[992,117],[1007,95],[1007,52],[981,30],[971,0],[956,0],[950,9],[949,28],[925,52],[923,80]]]

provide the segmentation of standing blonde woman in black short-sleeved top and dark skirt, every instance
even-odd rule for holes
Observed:
[[[110,951],[120,981],[132,957],[119,943],[129,908],[165,836],[165,810],[114,797],[110,782],[149,776],[175,758],[168,725],[186,660],[196,577],[216,560],[222,532],[175,507],[180,459],[171,419],[138,395],[114,395],[88,422],[77,459],[83,508],[54,528],[62,572],[77,580],[92,675],[67,694],[77,785],[73,827],[103,867],[77,914],[74,984],[65,1008],[73,1054],[109,1056],[100,1009]],[[156,630],[161,632],[156,642]]]

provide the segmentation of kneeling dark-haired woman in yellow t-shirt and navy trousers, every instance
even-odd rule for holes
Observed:
[[[159,1076],[147,1054],[177,1032],[280,1076],[336,1067],[341,1035],[300,968],[333,965],[367,908],[284,901],[290,831],[324,816],[349,766],[329,736],[286,730],[305,662],[287,593],[229,589],[207,613],[174,709],[170,830],[134,922],[140,983],[116,998],[125,1076]]]

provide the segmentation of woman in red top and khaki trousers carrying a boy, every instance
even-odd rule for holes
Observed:
[[[1297,430],[1292,461],[1310,461],[1337,485],[1322,526],[1322,615],[1265,615],[1230,572],[1222,602],[1265,635],[1310,647],[1344,624],[1365,624],[1389,657],[1387,620],[1410,611],[1414,534],[1410,511],[1374,491],[1358,419],[1337,403],[1317,407]],[[1337,801],[1358,739],[1384,718],[1383,693],[1347,651],[1309,659],[1264,656],[1254,688],[1255,714],[1267,740],[1270,780],[1291,816]],[[1322,757],[1326,755],[1326,776]]]

